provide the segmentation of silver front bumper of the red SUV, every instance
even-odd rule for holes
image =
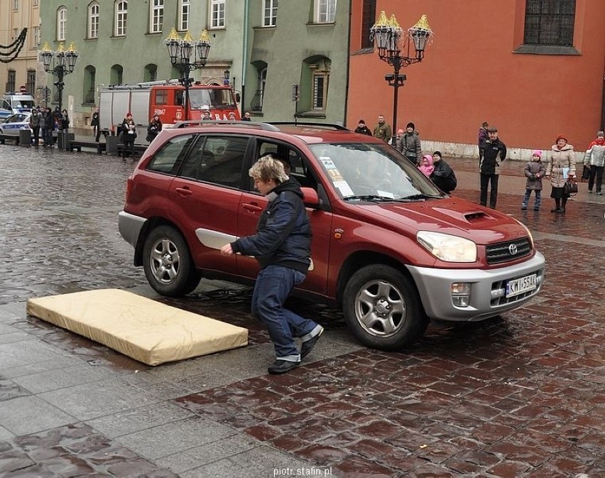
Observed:
[[[538,251],[521,264],[483,269],[437,269],[408,266],[425,312],[431,319],[473,322],[513,310],[540,292],[544,279],[544,256]],[[506,298],[503,288],[512,279],[536,274],[537,287],[529,292]],[[467,307],[452,302],[452,283],[469,283],[470,300]]]

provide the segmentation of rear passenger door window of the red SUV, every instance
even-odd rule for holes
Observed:
[[[204,136],[195,143],[181,174],[186,178],[239,188],[248,138]]]

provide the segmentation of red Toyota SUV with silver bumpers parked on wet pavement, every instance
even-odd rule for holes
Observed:
[[[267,200],[248,170],[267,153],[290,159],[312,224],[297,293],[341,307],[369,347],[399,349],[430,319],[499,315],[542,286],[527,227],[446,195],[383,141],[326,124],[190,121],[151,143],[119,214],[158,293],[185,295],[202,277],[254,283],[256,260],[220,249],[254,233]]]

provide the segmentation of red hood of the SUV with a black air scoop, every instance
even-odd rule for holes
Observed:
[[[493,244],[526,237],[516,219],[459,198],[356,205],[368,222],[380,221],[391,230],[432,231],[464,237],[476,244]],[[373,218],[373,219],[371,219]]]

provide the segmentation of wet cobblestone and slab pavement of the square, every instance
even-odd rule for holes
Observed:
[[[451,159],[455,196],[476,160]],[[604,477],[603,197],[520,211],[523,163],[498,209],[547,258],[532,303],[431,325],[399,353],[357,343],[337,310],[292,300],[327,332],[305,366],[268,376],[249,288],[159,298],[116,227],[133,168],[112,156],[0,146],[1,477]],[[545,191],[549,191],[547,186]],[[28,317],[29,297],[128,288],[249,329],[244,349],[148,367]]]

